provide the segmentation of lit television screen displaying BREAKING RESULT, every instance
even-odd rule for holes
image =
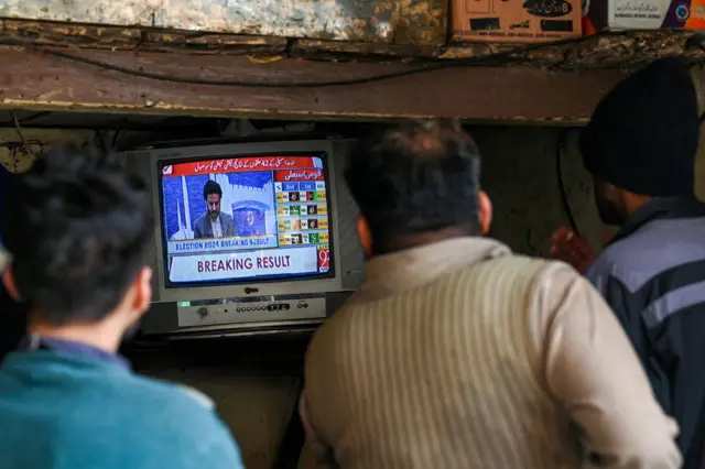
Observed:
[[[330,276],[322,156],[161,163],[166,286]]]

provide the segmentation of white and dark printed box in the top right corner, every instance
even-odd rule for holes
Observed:
[[[604,30],[705,29],[705,0],[585,1],[585,34]]]

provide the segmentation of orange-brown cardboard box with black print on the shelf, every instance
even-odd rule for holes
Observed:
[[[582,35],[581,0],[453,0],[453,39],[551,42]]]

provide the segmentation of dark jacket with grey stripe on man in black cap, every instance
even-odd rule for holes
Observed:
[[[680,426],[684,469],[705,444],[705,204],[654,199],[633,214],[588,269]]]

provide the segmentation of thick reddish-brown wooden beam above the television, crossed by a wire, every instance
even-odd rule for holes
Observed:
[[[74,50],[133,70],[210,80],[346,80],[410,65],[273,62],[249,57]],[[620,78],[619,70],[549,72],[535,67],[447,67],[361,85],[243,88],[160,81],[106,70],[33,48],[0,48],[0,108],[208,117],[581,123]]]

